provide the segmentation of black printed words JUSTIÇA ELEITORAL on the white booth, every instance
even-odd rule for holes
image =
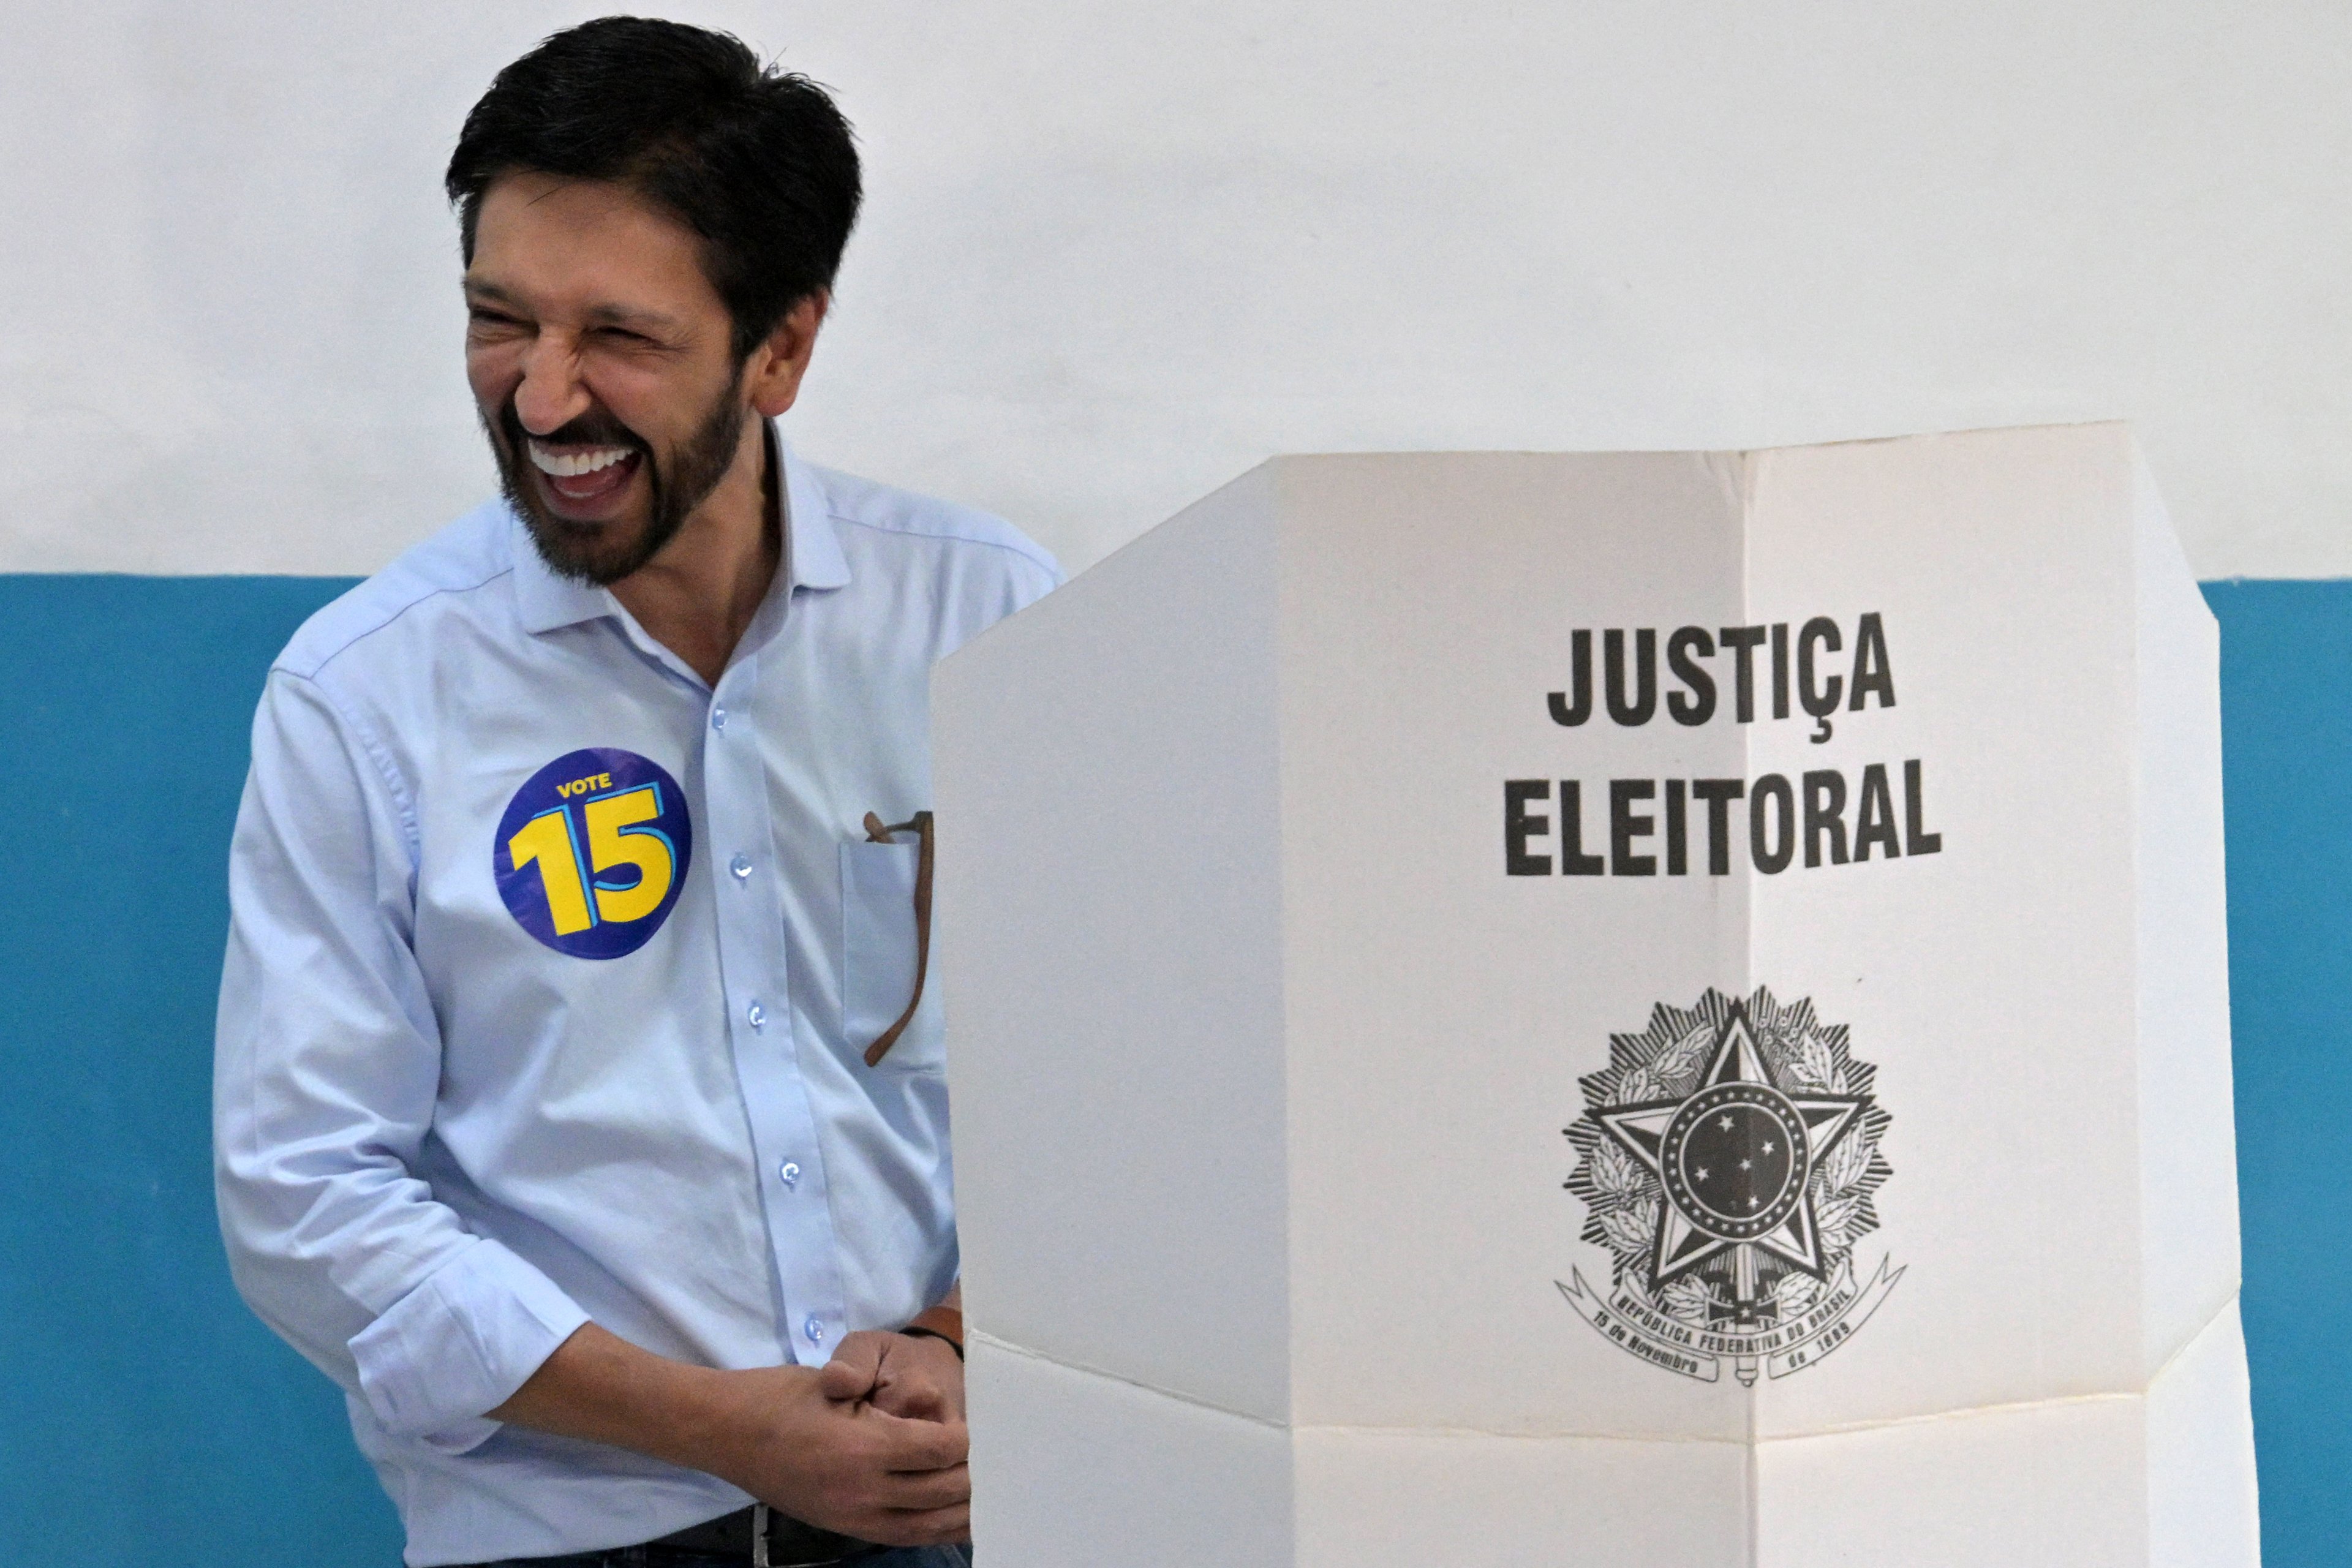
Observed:
[[[1597,677],[1592,644],[1590,628],[1569,635],[1569,689],[1545,696],[1555,724],[1573,729],[1606,717],[1628,729],[1653,719],[1698,726],[1804,715],[1813,724],[1811,741],[1823,743],[1839,712],[1896,705],[1893,663],[1877,611],[1856,618],[1851,642],[1830,616],[1795,625],[1795,635],[1788,621],[1677,628],[1665,637],[1663,701],[1656,628],[1602,630]],[[1740,837],[1748,839],[1748,860],[1764,875],[1943,849],[1943,835],[1926,827],[1926,780],[1917,757],[1900,762],[1900,785],[1886,762],[1865,764],[1860,776],[1802,769],[1795,778],[1762,773],[1752,780],[1609,778],[1606,804],[1595,799],[1590,806],[1583,785],[1581,778],[1562,778],[1555,795],[1550,778],[1503,780],[1508,875],[1729,877]],[[1588,809],[1604,818],[1604,837],[1588,835]]]

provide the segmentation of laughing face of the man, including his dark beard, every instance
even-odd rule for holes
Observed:
[[[564,576],[616,583],[654,559],[753,440],[694,233],[621,186],[492,183],[466,308],[499,477]]]

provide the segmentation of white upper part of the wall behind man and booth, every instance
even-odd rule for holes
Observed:
[[[0,569],[367,571],[492,484],[440,167],[590,7],[0,16]],[[2352,574],[2340,0],[668,7],[870,207],[802,451],[1084,567],[1272,451],[2129,416]]]

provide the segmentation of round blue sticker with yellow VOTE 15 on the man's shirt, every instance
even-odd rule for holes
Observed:
[[[492,867],[524,931],[576,959],[644,947],[694,858],[687,795],[656,762],[590,745],[515,790]]]

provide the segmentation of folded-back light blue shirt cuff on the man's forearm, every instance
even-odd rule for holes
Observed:
[[[506,1403],[588,1314],[553,1279],[475,1241],[350,1340],[360,1392],[393,1436],[477,1448]]]

